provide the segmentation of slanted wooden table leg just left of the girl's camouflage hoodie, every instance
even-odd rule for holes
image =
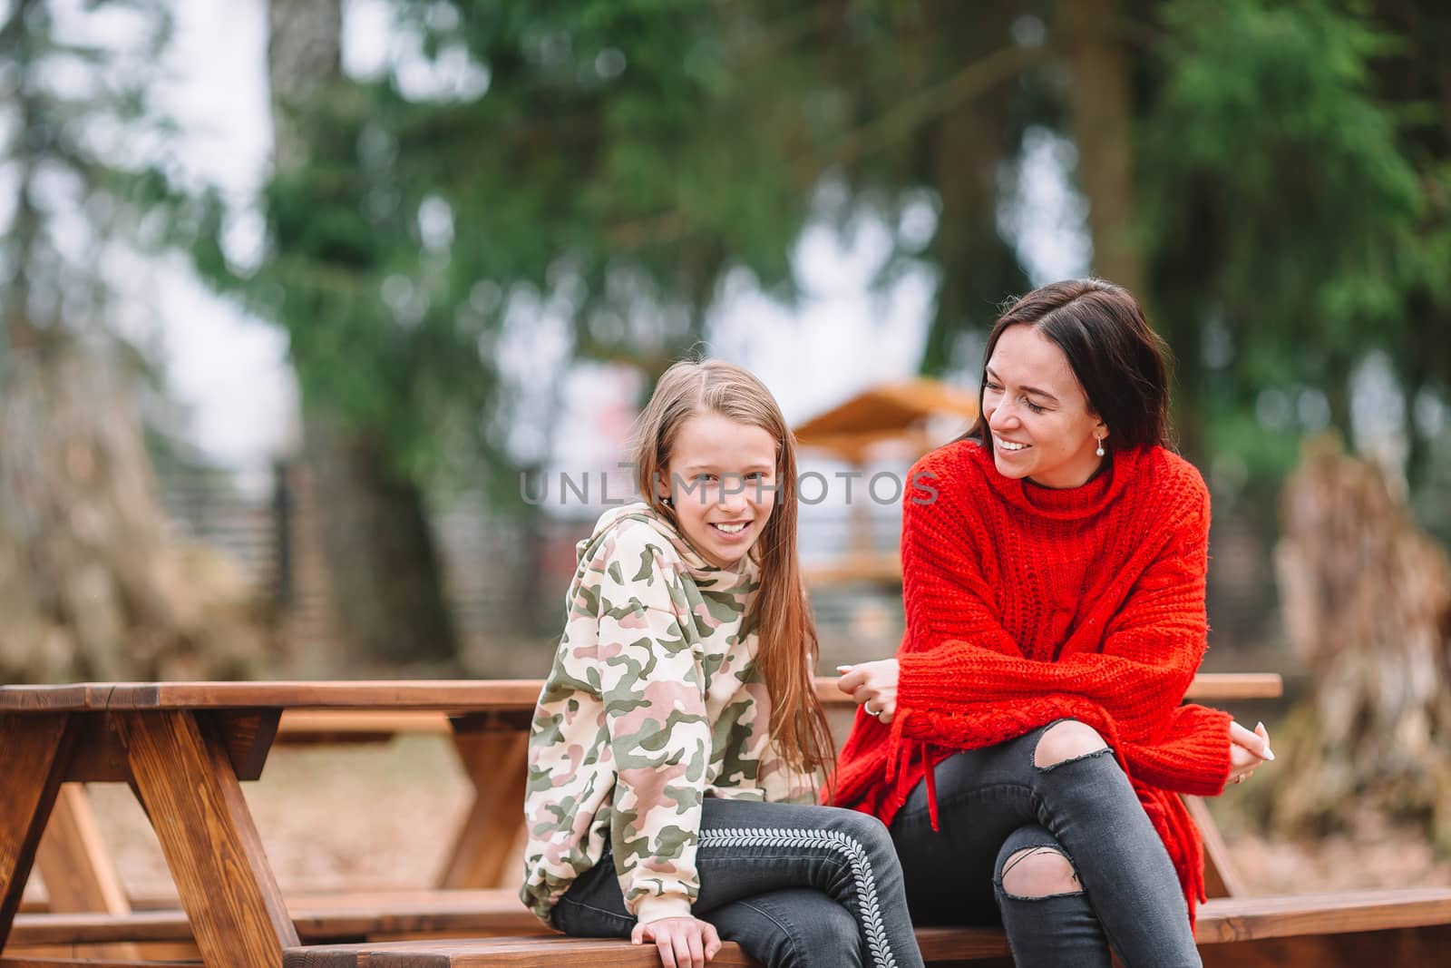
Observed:
[[[528,779],[528,733],[456,731],[459,760],[474,788],[473,807],[454,839],[438,887],[514,887],[519,872],[509,868],[524,823]]]

